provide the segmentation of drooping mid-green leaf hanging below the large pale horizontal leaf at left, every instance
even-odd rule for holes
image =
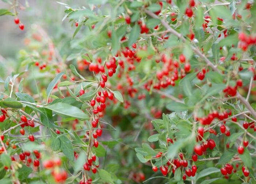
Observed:
[[[60,149],[69,160],[74,160],[74,150],[71,141],[64,135],[59,136]]]

